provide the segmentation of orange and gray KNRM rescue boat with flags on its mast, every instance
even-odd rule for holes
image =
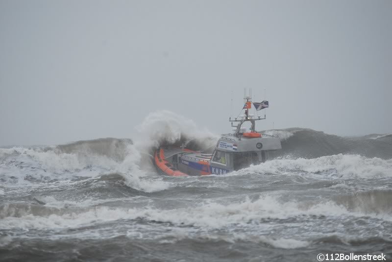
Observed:
[[[255,130],[255,122],[266,119],[266,115],[264,118],[249,115],[252,104],[258,112],[269,107],[269,102],[252,103],[251,96],[246,94],[244,102],[242,110],[245,109],[245,115],[229,118],[235,128],[234,133],[222,136],[212,152],[192,151],[186,149],[185,145],[161,146],[154,153],[157,170],[169,176],[222,175],[251,164],[263,163],[273,157],[274,152],[282,148],[280,140]],[[245,122],[250,122],[250,132],[242,128]]]

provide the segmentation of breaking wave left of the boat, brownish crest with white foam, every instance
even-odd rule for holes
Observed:
[[[28,184],[118,173],[126,185],[146,192],[164,190],[164,182],[148,179],[140,167],[141,152],[130,139],[105,138],[53,147],[0,149],[0,179]]]

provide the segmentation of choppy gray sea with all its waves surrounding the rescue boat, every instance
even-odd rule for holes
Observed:
[[[181,134],[163,133],[1,148],[0,261],[392,259],[392,135],[277,130],[278,159],[167,177],[148,154]],[[191,144],[200,141],[215,143],[198,134]]]

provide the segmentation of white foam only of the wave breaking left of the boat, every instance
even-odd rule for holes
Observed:
[[[140,148],[128,144],[122,150],[125,150],[124,158],[119,161],[106,155],[96,154],[85,146],[80,146],[73,153],[42,148],[6,149],[4,151],[6,154],[15,156],[12,156],[11,160],[13,161],[10,161],[9,164],[1,163],[0,175],[15,177],[18,179],[18,184],[22,185],[29,184],[25,180],[26,175],[39,179],[49,176],[50,178],[67,180],[72,176],[98,177],[102,174],[117,172],[123,176],[127,186],[136,190],[153,192],[169,188],[171,183],[164,182],[160,177],[148,177],[146,170],[140,167],[142,160]],[[17,161],[18,166],[13,163],[14,161]],[[27,169],[21,169],[21,167]]]

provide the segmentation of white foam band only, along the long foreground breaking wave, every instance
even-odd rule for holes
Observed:
[[[8,208],[7,205],[4,209]],[[3,210],[3,213],[7,213]],[[8,212],[9,213],[9,212]],[[13,214],[13,213],[9,213]],[[64,228],[79,227],[118,219],[136,219],[171,222],[178,225],[191,225],[206,228],[221,228],[231,224],[247,225],[262,218],[285,219],[303,215],[323,216],[375,216],[390,219],[390,214],[350,211],[333,201],[325,202],[281,202],[271,195],[261,196],[255,201],[245,199],[242,202],[221,204],[207,203],[197,207],[161,210],[146,208],[109,208],[94,207],[80,213],[50,214],[34,216],[25,214],[19,217],[7,216],[0,220],[0,228]]]

